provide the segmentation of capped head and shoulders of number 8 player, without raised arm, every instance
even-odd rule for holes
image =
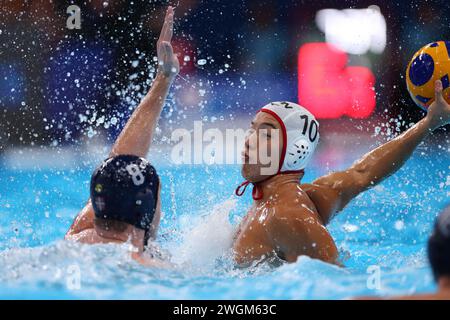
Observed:
[[[164,265],[142,258],[149,240],[156,237],[161,215],[159,190],[158,174],[146,159],[134,155],[106,159],[91,177],[93,228],[67,238],[88,244],[129,242],[133,257],[140,262]]]

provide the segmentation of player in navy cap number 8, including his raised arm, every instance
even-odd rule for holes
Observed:
[[[161,267],[169,265],[155,258],[154,253],[144,252],[156,238],[161,218],[159,177],[144,157],[179,72],[171,45],[173,15],[173,8],[169,7],[157,43],[159,67],[153,85],[117,138],[110,158],[94,171],[91,197],[66,234],[66,239],[83,243],[129,242],[134,259]]]

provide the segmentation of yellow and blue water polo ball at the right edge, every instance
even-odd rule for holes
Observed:
[[[434,82],[441,80],[450,102],[450,41],[429,43],[412,57],[406,69],[406,85],[414,102],[427,110],[434,101]]]

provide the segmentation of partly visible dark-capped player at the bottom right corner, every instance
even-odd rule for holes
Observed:
[[[414,296],[392,297],[393,300],[450,300],[450,206],[437,217],[428,239],[428,260],[437,283],[437,292]],[[360,300],[375,300],[361,297]]]

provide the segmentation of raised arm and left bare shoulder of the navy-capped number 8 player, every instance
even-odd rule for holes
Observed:
[[[173,34],[173,15],[173,8],[169,7],[157,43],[158,73],[152,87],[123,128],[112,147],[110,156],[132,154],[145,157],[150,149],[165,99],[180,69],[178,58],[173,53],[170,43]],[[94,210],[89,200],[75,218],[66,238],[93,227]]]

